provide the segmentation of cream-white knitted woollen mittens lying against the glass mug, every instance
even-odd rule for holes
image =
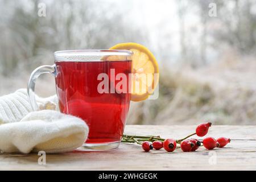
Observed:
[[[36,101],[45,110],[32,111],[26,89],[0,97],[1,152],[67,152],[85,142],[88,126],[80,118],[56,111],[56,96],[36,97]]]

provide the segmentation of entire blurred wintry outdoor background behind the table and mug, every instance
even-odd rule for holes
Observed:
[[[160,96],[132,103],[128,123],[256,124],[255,0],[0,0],[0,12],[0,95],[26,88],[54,51],[137,42],[159,62]],[[36,92],[54,94],[53,77]]]

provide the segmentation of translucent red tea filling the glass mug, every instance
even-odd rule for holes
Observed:
[[[97,78],[101,73],[110,78],[110,69],[114,69],[115,76],[125,73],[128,78],[131,61],[61,61],[56,62],[56,68],[60,110],[86,121],[89,126],[86,143],[119,142],[130,106],[130,94],[99,93],[101,80]]]

